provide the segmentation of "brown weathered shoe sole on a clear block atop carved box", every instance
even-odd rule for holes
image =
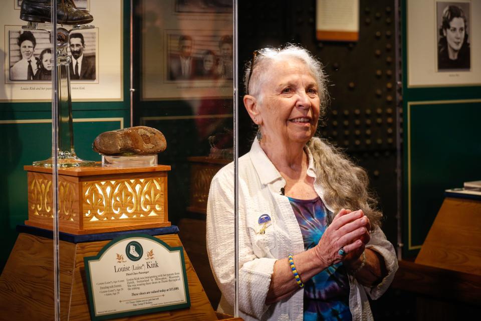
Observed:
[[[136,126],[101,133],[92,148],[104,155],[155,155],[167,147],[164,135],[157,129]]]

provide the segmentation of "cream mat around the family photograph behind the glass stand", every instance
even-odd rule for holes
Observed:
[[[3,0],[9,1],[10,0]],[[73,101],[121,101],[123,100],[123,17],[122,0],[92,1],[90,13],[94,17],[91,23],[98,29],[97,42],[97,79],[95,81],[72,81]],[[51,101],[52,92],[48,84],[38,82],[21,81],[18,83],[6,83],[5,73],[9,70],[9,48],[5,48],[7,26],[22,26],[26,22],[20,20],[19,11],[11,6],[5,6],[6,10],[0,12],[0,70],[4,75],[0,80],[0,102],[10,101]],[[12,8],[12,9],[10,9]],[[69,29],[69,26],[64,26]],[[7,77],[8,78],[8,77]],[[31,86],[30,86],[31,84]],[[25,90],[22,87],[33,87]],[[44,88],[45,87],[45,88]]]

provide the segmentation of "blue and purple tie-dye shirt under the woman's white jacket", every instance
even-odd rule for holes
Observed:
[[[327,228],[329,210],[320,197],[288,199],[301,228],[305,250],[313,248]],[[331,265],[304,282],[304,321],[318,320],[352,320],[349,279],[342,263]]]

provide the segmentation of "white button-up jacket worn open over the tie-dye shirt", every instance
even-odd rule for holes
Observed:
[[[307,175],[316,177],[311,152],[308,148]],[[304,293],[300,288],[289,298],[266,305],[274,263],[289,253],[304,251],[304,242],[287,197],[280,194],[285,180],[265,154],[257,140],[251,151],[239,158],[239,310],[248,320],[303,320]],[[324,202],[322,188],[314,189]],[[233,314],[234,300],[234,166],[222,168],[212,179],[207,202],[207,253],[217,285],[222,292],[218,311]],[[332,209],[324,202],[326,207]],[[272,225],[265,234],[258,234],[262,214],[268,214]],[[368,296],[377,299],[386,291],[397,270],[397,259],[392,244],[381,229],[371,234],[366,248],[384,257],[387,276],[374,287],[360,285],[348,275],[350,283],[349,307],[353,321],[372,320]]]

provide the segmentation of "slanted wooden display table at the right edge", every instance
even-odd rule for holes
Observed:
[[[481,197],[446,193],[415,261],[392,287],[415,298],[418,320],[469,319],[481,306]]]

